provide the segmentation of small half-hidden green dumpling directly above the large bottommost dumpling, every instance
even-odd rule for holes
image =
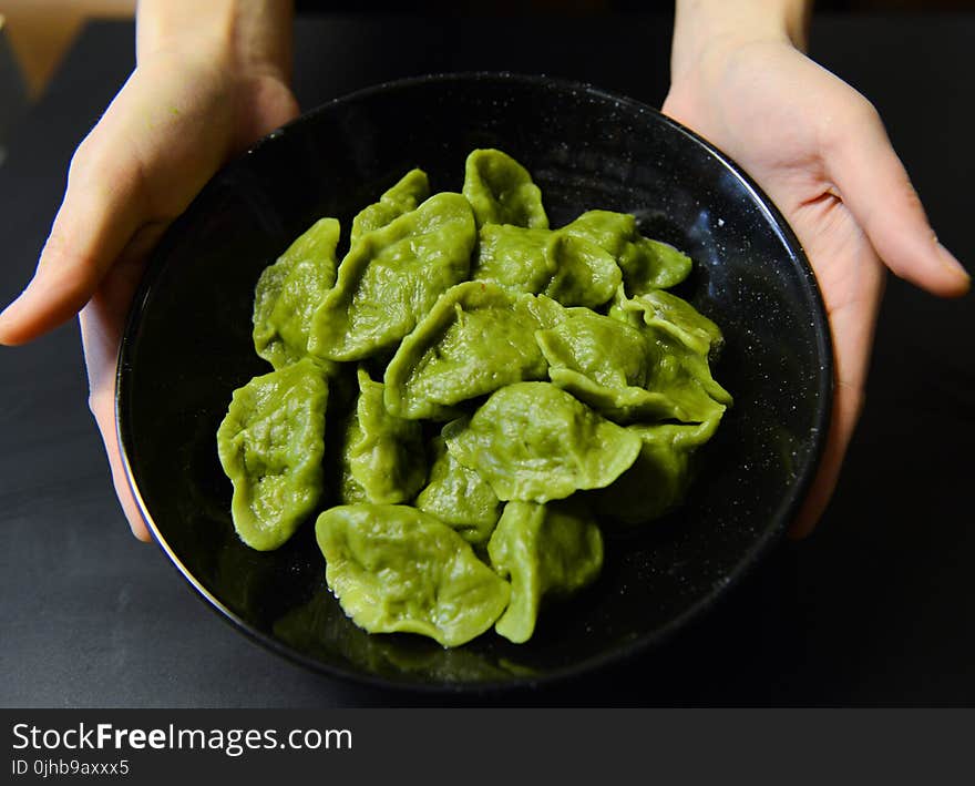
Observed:
[[[501,501],[480,474],[451,456],[442,437],[435,437],[432,447],[430,482],[414,504],[453,527],[469,543],[486,543],[501,516]]]

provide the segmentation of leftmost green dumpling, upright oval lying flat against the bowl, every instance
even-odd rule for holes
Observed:
[[[277,549],[321,496],[328,384],[310,358],[234,391],[217,452],[234,484],[234,527],[247,545]]]

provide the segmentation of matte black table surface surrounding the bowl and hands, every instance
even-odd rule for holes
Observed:
[[[512,70],[659,105],[670,23],[302,18],[311,108],[397,76]],[[975,16],[817,18],[812,54],[884,116],[941,239],[975,265]],[[29,278],[68,162],[133,67],[90,25],[0,166],[0,299]],[[85,406],[78,327],[0,351],[0,705],[975,705],[975,298],[891,279],[868,405],[818,532],[784,542],[665,649],[530,693],[437,698],[333,681],[222,622],[130,534]]]

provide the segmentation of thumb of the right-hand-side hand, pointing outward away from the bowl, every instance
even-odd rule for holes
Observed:
[[[825,156],[829,176],[893,273],[935,295],[964,295],[968,274],[937,242],[880,116],[866,108],[832,132]]]

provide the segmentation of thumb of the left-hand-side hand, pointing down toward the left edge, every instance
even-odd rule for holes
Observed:
[[[146,220],[141,167],[95,134],[75,154],[64,202],[24,292],[0,315],[0,344],[23,344],[73,317]]]

